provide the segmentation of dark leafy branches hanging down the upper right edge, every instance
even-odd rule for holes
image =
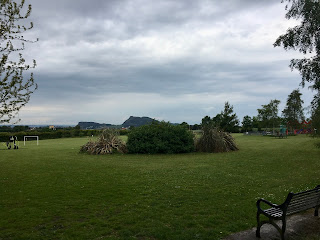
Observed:
[[[299,50],[304,55],[314,54],[302,59],[292,59],[291,69],[297,69],[302,77],[301,85],[311,83],[316,91],[312,105],[312,120],[320,118],[320,2],[318,0],[282,0],[286,1],[286,18],[301,19],[301,24],[289,28],[286,34],[278,37],[274,46],[283,46],[284,49]],[[318,128],[320,125],[318,125]]]

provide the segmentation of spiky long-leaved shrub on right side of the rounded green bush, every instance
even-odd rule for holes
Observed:
[[[239,150],[234,138],[217,128],[204,127],[203,135],[196,142],[198,152],[230,152]]]

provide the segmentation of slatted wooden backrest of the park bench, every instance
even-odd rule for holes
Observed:
[[[287,215],[308,210],[320,205],[320,185],[316,188],[299,192],[289,193]]]

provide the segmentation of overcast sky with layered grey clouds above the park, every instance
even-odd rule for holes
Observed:
[[[285,106],[300,76],[274,48],[297,22],[281,0],[27,0],[23,52],[39,85],[21,124],[121,124],[129,116],[189,124],[229,101],[242,121]],[[305,106],[312,92],[302,89]]]

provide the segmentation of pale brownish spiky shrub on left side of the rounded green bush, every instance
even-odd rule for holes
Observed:
[[[83,145],[80,152],[90,154],[111,154],[114,152],[126,153],[125,143],[119,139],[119,133],[116,130],[105,129],[102,131],[97,141],[89,141]]]

